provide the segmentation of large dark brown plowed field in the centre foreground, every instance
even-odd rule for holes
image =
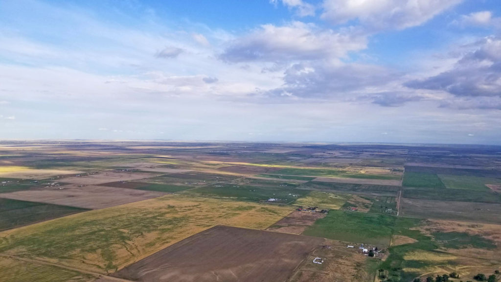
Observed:
[[[134,281],[286,281],[324,239],[215,226],[133,263],[114,276]]]

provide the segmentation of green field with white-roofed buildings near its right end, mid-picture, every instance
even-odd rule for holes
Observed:
[[[291,203],[299,197],[308,194],[309,191],[296,189],[295,185],[282,184],[274,187],[237,185],[227,183],[216,183],[204,187],[190,190],[187,193],[196,193],[204,196],[215,196],[223,198],[234,198],[243,201],[261,202],[270,198],[277,199],[276,203]],[[291,195],[292,194],[292,195]],[[296,195],[296,197],[293,197]]]

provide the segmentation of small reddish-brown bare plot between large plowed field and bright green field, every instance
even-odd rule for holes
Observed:
[[[306,228],[319,218],[325,217],[327,214],[310,211],[293,211],[290,215],[284,217],[279,222],[272,225],[267,230],[301,234]]]

